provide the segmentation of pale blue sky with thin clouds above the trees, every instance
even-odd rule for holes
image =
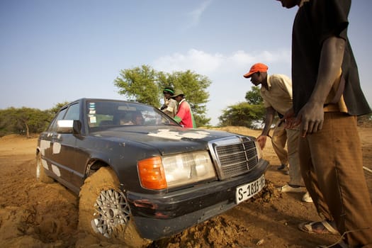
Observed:
[[[372,103],[371,0],[355,0],[349,39]],[[255,62],[291,76],[295,11],[274,0],[0,0],[0,109],[45,110],[81,97],[123,99],[120,69],[191,69],[212,84],[207,117],[251,89]],[[187,98],[187,96],[186,96]]]

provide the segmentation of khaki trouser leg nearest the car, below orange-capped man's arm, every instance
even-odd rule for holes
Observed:
[[[271,144],[274,152],[278,156],[281,164],[288,164],[288,152],[286,150],[287,132],[284,129],[284,122],[278,120],[275,125],[273,137],[271,137]]]

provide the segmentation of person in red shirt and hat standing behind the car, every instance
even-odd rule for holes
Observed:
[[[184,92],[180,89],[174,91],[174,95],[171,96],[178,103],[178,111],[174,120],[181,124],[184,128],[196,128],[195,120],[193,119],[193,113],[191,112],[191,107],[184,98]]]

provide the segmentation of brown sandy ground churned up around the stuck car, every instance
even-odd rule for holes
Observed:
[[[253,135],[259,131],[227,128]],[[372,129],[360,128],[364,166],[372,169]],[[77,231],[78,201],[60,184],[35,181],[37,138],[18,135],[0,138],[0,247],[123,247],[109,240],[100,242]],[[303,193],[279,193],[288,176],[278,171],[279,161],[267,142],[265,159],[268,186],[259,197],[179,235],[154,242],[150,247],[316,247],[337,242],[336,235],[311,235],[297,225],[320,220],[312,203],[303,203]],[[366,172],[372,196],[372,174]]]

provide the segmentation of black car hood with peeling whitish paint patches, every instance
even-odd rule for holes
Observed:
[[[91,133],[91,135],[113,142],[128,143],[128,145],[129,143],[133,144],[133,142],[141,143],[142,145],[154,147],[162,154],[206,150],[208,149],[208,142],[211,140],[241,136],[218,130],[181,128],[164,125],[108,128]]]

